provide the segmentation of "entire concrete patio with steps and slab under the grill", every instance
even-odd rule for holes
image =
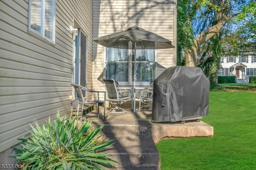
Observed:
[[[118,161],[119,170],[160,170],[160,155],[155,146],[162,138],[213,136],[213,127],[200,121],[154,122],[151,112],[110,114],[106,121],[96,117],[96,112],[86,115],[94,125],[104,125],[104,138],[114,139],[113,146],[102,150]]]

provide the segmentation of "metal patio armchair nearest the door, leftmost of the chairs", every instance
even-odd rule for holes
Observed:
[[[88,89],[86,87],[83,87],[81,85],[78,84],[74,84],[71,83],[71,85],[74,87],[74,89],[76,90],[76,94],[78,96],[78,107],[77,107],[77,113],[76,113],[76,117],[78,118],[78,113],[79,113],[79,108],[80,108],[80,104],[82,105],[82,111],[81,111],[81,121],[82,121],[82,117],[83,117],[83,111],[84,111],[84,104],[94,104],[94,103],[98,103],[98,117],[100,115],[100,109],[99,109],[99,103],[102,103],[103,107],[104,107],[104,121],[105,121],[105,101],[106,101],[106,91],[94,91],[92,89]],[[82,90],[84,91],[88,91],[88,92],[92,92],[92,93],[97,93],[98,95],[98,100],[87,100],[86,97],[83,96]],[[100,100],[100,93],[104,93],[104,101]]]

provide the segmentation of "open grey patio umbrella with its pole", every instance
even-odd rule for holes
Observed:
[[[123,45],[124,42],[134,42],[134,89],[136,84],[136,49],[166,49],[174,47],[170,40],[167,40],[166,38],[158,36],[157,34],[154,34],[152,32],[148,32],[138,26],[133,26],[121,32],[116,32],[114,34],[95,38],[93,39],[93,41],[105,47],[122,49],[128,49],[128,46]],[[152,45],[152,42],[156,42],[156,46]],[[136,102],[135,95],[136,93],[134,90],[134,113]]]

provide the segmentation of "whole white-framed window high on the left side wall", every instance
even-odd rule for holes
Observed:
[[[55,0],[29,1],[28,30],[54,43]]]

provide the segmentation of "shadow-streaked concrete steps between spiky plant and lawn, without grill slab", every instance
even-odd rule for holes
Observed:
[[[110,158],[118,162],[115,166],[119,170],[160,170],[160,154],[149,130],[150,123],[146,120],[125,122],[104,123],[105,140],[114,139],[115,144],[102,152],[112,155]]]

